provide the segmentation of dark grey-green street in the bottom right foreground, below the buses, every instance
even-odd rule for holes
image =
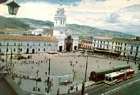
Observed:
[[[117,83],[113,86],[107,84],[94,85],[86,88],[85,93],[88,95],[139,95],[140,94],[140,73],[132,79]],[[81,95],[81,92],[67,94],[67,95]]]

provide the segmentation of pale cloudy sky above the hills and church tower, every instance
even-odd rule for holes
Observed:
[[[16,17],[54,21],[59,7],[64,7],[68,24],[89,25],[140,36],[140,0],[16,0]],[[60,6],[61,5],[61,6]],[[9,16],[5,4],[0,15]]]

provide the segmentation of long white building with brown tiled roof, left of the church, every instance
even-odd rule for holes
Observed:
[[[57,51],[57,40],[50,36],[0,35],[0,54],[35,54]]]

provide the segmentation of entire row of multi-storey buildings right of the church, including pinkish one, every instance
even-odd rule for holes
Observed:
[[[140,40],[124,38],[82,39],[79,48],[93,50],[101,54],[140,58]]]

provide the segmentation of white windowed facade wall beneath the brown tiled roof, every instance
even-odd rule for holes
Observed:
[[[57,51],[56,42],[45,41],[0,41],[0,53],[41,53]]]

